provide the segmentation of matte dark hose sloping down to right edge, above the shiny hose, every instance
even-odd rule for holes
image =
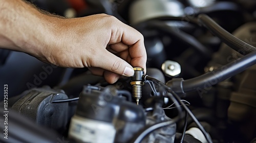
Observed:
[[[236,50],[242,55],[247,55],[256,51],[256,47],[247,44],[246,42],[234,37],[232,34],[220,27],[214,20],[212,20],[206,14],[200,14],[198,16],[199,23],[205,28],[211,31],[212,34],[219,37],[224,43],[230,46],[233,50]]]

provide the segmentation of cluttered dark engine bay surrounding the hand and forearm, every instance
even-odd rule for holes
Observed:
[[[147,68],[109,84],[0,49],[0,141],[256,142],[256,2],[29,2],[68,18],[114,15],[144,36]]]

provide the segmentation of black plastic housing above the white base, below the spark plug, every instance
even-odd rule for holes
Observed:
[[[114,142],[127,142],[146,124],[143,108],[118,97],[114,86],[84,86],[75,114],[112,123],[116,130]]]

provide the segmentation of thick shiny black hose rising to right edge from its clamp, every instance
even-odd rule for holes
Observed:
[[[206,73],[196,78],[184,80],[182,82],[183,92],[195,91],[201,88],[208,90],[211,85],[215,85],[227,78],[237,75],[244,71],[246,68],[256,63],[256,52],[250,53],[242,58],[238,58],[233,62],[222,66],[221,68]],[[168,83],[167,83],[168,85]],[[177,84],[171,84],[177,85]]]

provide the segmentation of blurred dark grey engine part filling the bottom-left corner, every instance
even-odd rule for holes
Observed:
[[[4,113],[6,110],[1,108],[0,111]],[[9,110],[7,113],[5,112],[4,116],[0,116],[0,121],[0,129],[3,131],[0,142],[34,143],[36,141],[56,143],[63,140],[65,141],[65,138],[58,136],[58,133],[49,128],[38,126],[32,120],[14,110]],[[2,121],[6,122],[2,124]]]

